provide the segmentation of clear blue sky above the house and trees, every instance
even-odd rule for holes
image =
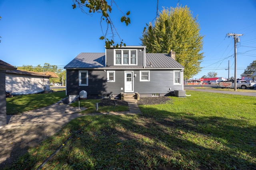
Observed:
[[[61,3],[60,3],[61,2]],[[131,24],[113,4],[110,14],[126,45],[140,45],[146,23],[156,17],[157,0],[116,0],[120,10],[130,10]],[[204,35],[202,71],[218,77],[234,76],[234,39],[227,33],[244,34],[237,44],[237,76],[256,60],[256,0],[159,0],[158,9],[187,5],[198,16]],[[0,59],[14,66],[50,63],[60,68],[79,53],[105,52],[100,15],[72,9],[72,0],[0,0]],[[87,10],[87,9],[86,9]],[[119,41],[118,36],[115,40]]]

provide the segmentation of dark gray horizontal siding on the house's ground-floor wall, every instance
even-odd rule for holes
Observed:
[[[85,69],[86,70],[86,69]],[[107,82],[107,71],[88,70],[88,86],[78,86],[79,70],[67,69],[67,95],[78,95],[85,90],[88,95],[120,94],[124,92],[125,70],[115,70],[115,82]],[[173,70],[150,70],[150,81],[140,82],[140,70],[134,70],[134,92],[140,94],[168,94],[170,91],[182,90],[182,84],[174,85]],[[183,78],[181,78],[183,80]],[[121,90],[121,88],[123,90]],[[170,89],[170,90],[169,90]]]

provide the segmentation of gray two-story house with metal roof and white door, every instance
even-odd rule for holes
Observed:
[[[175,61],[175,52],[146,53],[145,46],[80,53],[64,68],[66,94],[72,98],[82,90],[87,98],[102,98],[135,92],[140,97],[168,96],[184,89],[184,67]]]

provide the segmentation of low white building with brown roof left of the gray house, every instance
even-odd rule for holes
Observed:
[[[6,90],[19,92],[23,90],[49,90],[49,78],[58,76],[54,72],[33,72],[26,70],[6,71]]]

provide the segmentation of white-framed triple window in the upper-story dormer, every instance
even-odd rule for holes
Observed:
[[[114,50],[114,65],[137,65],[137,50]]]

